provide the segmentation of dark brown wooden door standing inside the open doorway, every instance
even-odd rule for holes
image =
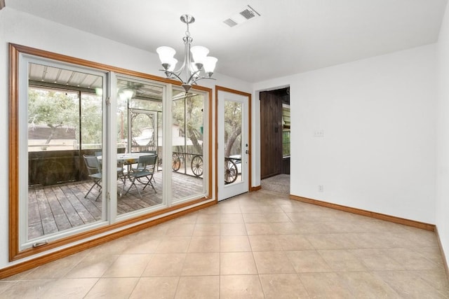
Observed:
[[[281,174],[282,99],[272,92],[260,92],[260,177]]]

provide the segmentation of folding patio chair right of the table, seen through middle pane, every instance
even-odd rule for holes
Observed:
[[[135,184],[135,181],[145,184],[142,190],[145,190],[145,188],[147,188],[147,186],[149,185],[152,186],[154,193],[156,193],[156,189],[154,188],[154,185],[152,183],[153,174],[156,169],[156,161],[157,155],[141,155],[139,157],[137,167],[131,169],[130,173],[128,174],[131,185],[129,186],[128,190],[126,190],[125,195],[128,194],[130,188],[134,186],[138,190],[139,196],[142,197],[138,186]]]

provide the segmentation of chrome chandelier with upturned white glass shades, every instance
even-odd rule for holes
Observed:
[[[175,70],[177,60],[175,59],[175,49],[162,46],[156,49],[159,54],[159,60],[165,71],[167,78],[177,78],[181,81],[185,92],[189,92],[196,81],[201,79],[213,79],[212,74],[217,63],[217,58],[208,56],[209,50],[203,46],[190,47],[193,39],[190,37],[189,24],[195,22],[192,15],[181,15],[181,22],[187,25],[187,31],[182,38],[184,41],[184,62],[182,66]],[[215,80],[215,79],[214,79]]]

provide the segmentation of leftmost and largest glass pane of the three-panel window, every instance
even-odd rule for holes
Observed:
[[[102,220],[102,76],[29,63],[27,239]]]

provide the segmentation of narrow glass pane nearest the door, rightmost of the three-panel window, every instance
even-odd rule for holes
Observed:
[[[173,201],[204,193],[204,96],[173,90]]]

